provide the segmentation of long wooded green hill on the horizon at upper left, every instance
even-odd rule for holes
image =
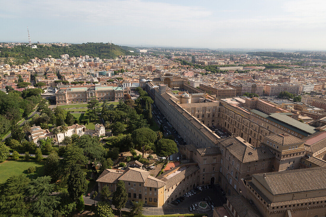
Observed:
[[[32,58],[45,58],[51,55],[53,58],[60,58],[62,54],[69,56],[84,56],[99,57],[101,59],[111,59],[120,55],[132,55],[133,53],[127,51],[128,47],[122,48],[119,45],[109,43],[83,43],[72,44],[69,47],[61,47],[52,45],[51,47],[37,45],[37,49],[30,47],[16,46],[13,48],[0,48],[0,57],[14,57],[15,64],[27,63]],[[133,50],[132,48],[128,50]]]

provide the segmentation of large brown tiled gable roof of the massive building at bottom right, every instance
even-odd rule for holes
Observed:
[[[259,173],[252,176],[273,195],[326,190],[326,168],[324,167]]]

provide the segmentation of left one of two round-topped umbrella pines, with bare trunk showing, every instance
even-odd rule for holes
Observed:
[[[132,132],[133,143],[139,148],[142,147],[142,157],[144,157],[145,147],[149,148],[156,140],[156,133],[149,128],[140,128]]]

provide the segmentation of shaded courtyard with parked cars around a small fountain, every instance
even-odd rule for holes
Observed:
[[[210,206],[222,206],[222,202],[215,188],[203,191],[196,190],[196,194],[180,202],[178,205],[168,203],[163,207],[144,207],[144,215],[163,215],[163,214],[184,214],[184,213],[205,213],[207,216],[213,216],[213,210]],[[202,207],[200,207],[201,205]],[[191,206],[191,211],[189,207]],[[195,210],[193,210],[193,206]]]

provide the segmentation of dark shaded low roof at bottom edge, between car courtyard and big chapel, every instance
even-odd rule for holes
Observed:
[[[228,200],[239,217],[261,217],[243,195],[228,196]]]

